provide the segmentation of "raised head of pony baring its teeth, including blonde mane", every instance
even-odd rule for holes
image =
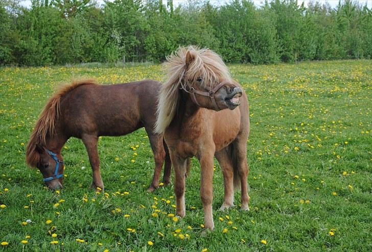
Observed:
[[[156,132],[168,127],[179,103],[179,90],[199,107],[219,111],[240,105],[240,85],[234,81],[221,57],[210,49],[180,47],[164,64],[167,79],[158,105]]]

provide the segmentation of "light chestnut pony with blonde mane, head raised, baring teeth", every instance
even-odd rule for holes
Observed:
[[[231,79],[219,55],[209,49],[179,48],[167,58],[165,71],[167,80],[160,90],[155,131],[164,133],[174,166],[176,214],[185,215],[186,160],[195,156],[201,169],[204,225],[213,230],[214,156],[224,178],[221,210],[234,206],[234,187],[239,185],[241,208],[249,210],[247,97],[241,86]]]

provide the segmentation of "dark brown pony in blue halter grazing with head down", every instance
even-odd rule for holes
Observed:
[[[99,136],[122,136],[141,127],[149,136],[155,171],[149,187],[159,185],[165,160],[164,184],[170,183],[171,161],[162,134],[154,132],[161,84],[156,81],[98,85],[94,80],[73,82],[57,91],[45,105],[27,145],[26,161],[40,169],[51,189],[62,187],[61,148],[70,137],[83,140],[93,171],[92,188],[104,188],[98,157]]]

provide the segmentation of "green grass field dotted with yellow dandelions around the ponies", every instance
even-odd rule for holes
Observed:
[[[216,228],[205,235],[198,163],[187,179],[186,216],[174,218],[173,186],[146,192],[154,161],[144,130],[100,139],[105,193],[89,189],[79,139],[62,151],[60,191],[25,164],[58,83],[160,81],[160,66],[0,68],[0,251],[371,251],[372,61],[229,67],[250,103],[251,210],[218,211],[216,162]]]

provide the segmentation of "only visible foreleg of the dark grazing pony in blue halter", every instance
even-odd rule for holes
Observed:
[[[98,137],[92,135],[84,135],[81,139],[83,140],[86,151],[88,152],[90,166],[93,171],[93,182],[91,183],[90,187],[95,188],[98,191],[100,190],[97,189],[97,187],[103,190],[104,186],[101,178],[100,158],[98,156],[97,148]]]

